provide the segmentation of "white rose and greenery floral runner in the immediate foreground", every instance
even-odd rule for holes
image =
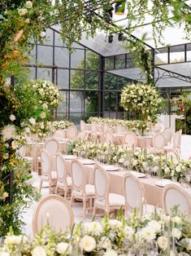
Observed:
[[[10,232],[1,255],[184,255],[191,254],[190,219],[173,210],[171,216],[136,211],[126,220],[105,216],[101,221],[76,224],[72,232],[55,233],[49,224],[33,240]]]

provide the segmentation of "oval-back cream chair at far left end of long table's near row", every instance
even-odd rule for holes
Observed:
[[[42,149],[41,151],[41,182],[39,187],[39,192],[41,192],[42,183],[46,182],[49,184],[49,193],[51,193],[51,189],[55,188],[57,183],[57,172],[51,170],[52,166],[52,157],[46,149]]]

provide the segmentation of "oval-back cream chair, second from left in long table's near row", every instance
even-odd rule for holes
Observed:
[[[59,153],[56,156],[57,183],[55,194],[59,189],[64,191],[64,198],[67,199],[67,192],[72,189],[72,178],[67,175],[67,166],[64,157]]]

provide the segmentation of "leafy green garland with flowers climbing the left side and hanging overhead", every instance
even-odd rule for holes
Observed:
[[[183,24],[186,32],[186,37],[189,37],[190,32],[190,14],[184,2],[178,0],[169,1],[151,1],[151,10],[149,9],[149,0],[133,0],[132,3],[128,2],[128,33],[132,33],[135,29],[132,27],[132,21],[135,20],[136,15],[139,16],[137,23],[142,24],[145,20],[145,11],[153,15],[154,20],[161,20],[159,25],[153,23],[153,36],[156,38],[156,30],[159,28],[159,36],[162,35],[163,29],[171,24],[167,17],[167,6],[172,8],[174,15],[172,21],[176,24]],[[80,41],[82,33],[87,31],[87,37],[93,36],[97,33],[98,29],[103,29],[106,33],[118,31],[120,28],[114,28],[112,21],[108,20],[109,11],[111,10],[111,1],[100,0],[91,2],[92,7],[97,10],[97,15],[93,15],[92,22],[87,18],[88,11],[85,11],[84,0],[55,0],[54,5],[50,0],[2,0],[0,3],[0,130],[2,133],[3,127],[12,125],[14,121],[14,114],[20,107],[20,100],[14,92],[13,86],[7,85],[7,77],[15,76],[19,81],[24,79],[26,69],[22,65],[29,61],[28,54],[33,48],[34,42],[45,37],[46,29],[53,24],[61,26],[61,35],[68,48],[72,47],[72,43]],[[100,8],[98,8],[98,4]],[[103,19],[99,16],[103,16]],[[159,27],[157,27],[159,26]],[[130,37],[131,38],[131,37]],[[138,51],[139,41],[130,42],[130,51]],[[156,40],[155,40],[156,42]],[[134,49],[136,47],[136,49]],[[152,76],[150,73],[150,55],[147,55],[145,46],[142,46],[141,60],[139,65],[146,71],[147,77]],[[141,50],[140,50],[141,51]],[[147,58],[149,56],[149,58]],[[144,59],[145,60],[142,60]],[[144,66],[144,67],[143,67]],[[147,70],[147,66],[149,69]],[[149,80],[148,80],[149,81]],[[13,115],[13,116],[11,116]],[[10,117],[13,121],[11,121]],[[21,130],[21,120],[15,122],[15,129]],[[14,170],[17,165],[15,148],[11,146],[13,139],[9,139],[8,147],[4,147],[5,141],[0,137],[0,167],[2,183],[3,176],[8,171]],[[7,156],[2,157],[2,156]],[[7,170],[7,166],[10,168]],[[6,168],[5,168],[6,167]],[[22,181],[22,179],[19,179]],[[2,183],[2,188],[5,192],[10,193],[8,184]],[[2,192],[3,194],[3,192]],[[18,202],[22,205],[22,201]],[[9,211],[10,215],[14,214],[14,205],[9,205],[7,196],[1,201],[2,210]],[[1,216],[2,218],[2,216]],[[5,221],[5,219],[4,219]],[[1,219],[3,223],[3,219]],[[12,222],[11,222],[12,223]],[[7,221],[8,225],[8,221]],[[2,226],[1,226],[2,227]],[[15,223],[15,230],[20,232],[20,228]]]

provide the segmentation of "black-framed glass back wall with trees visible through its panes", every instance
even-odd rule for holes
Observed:
[[[117,57],[124,67],[124,55]],[[112,62],[112,61],[111,61]],[[46,78],[58,84],[63,102],[55,113],[57,120],[79,123],[91,116],[123,117],[119,106],[120,90],[128,78],[105,72],[108,60],[85,46],[74,43],[67,50],[59,33],[46,32],[46,42],[37,43],[31,54],[30,77]]]

